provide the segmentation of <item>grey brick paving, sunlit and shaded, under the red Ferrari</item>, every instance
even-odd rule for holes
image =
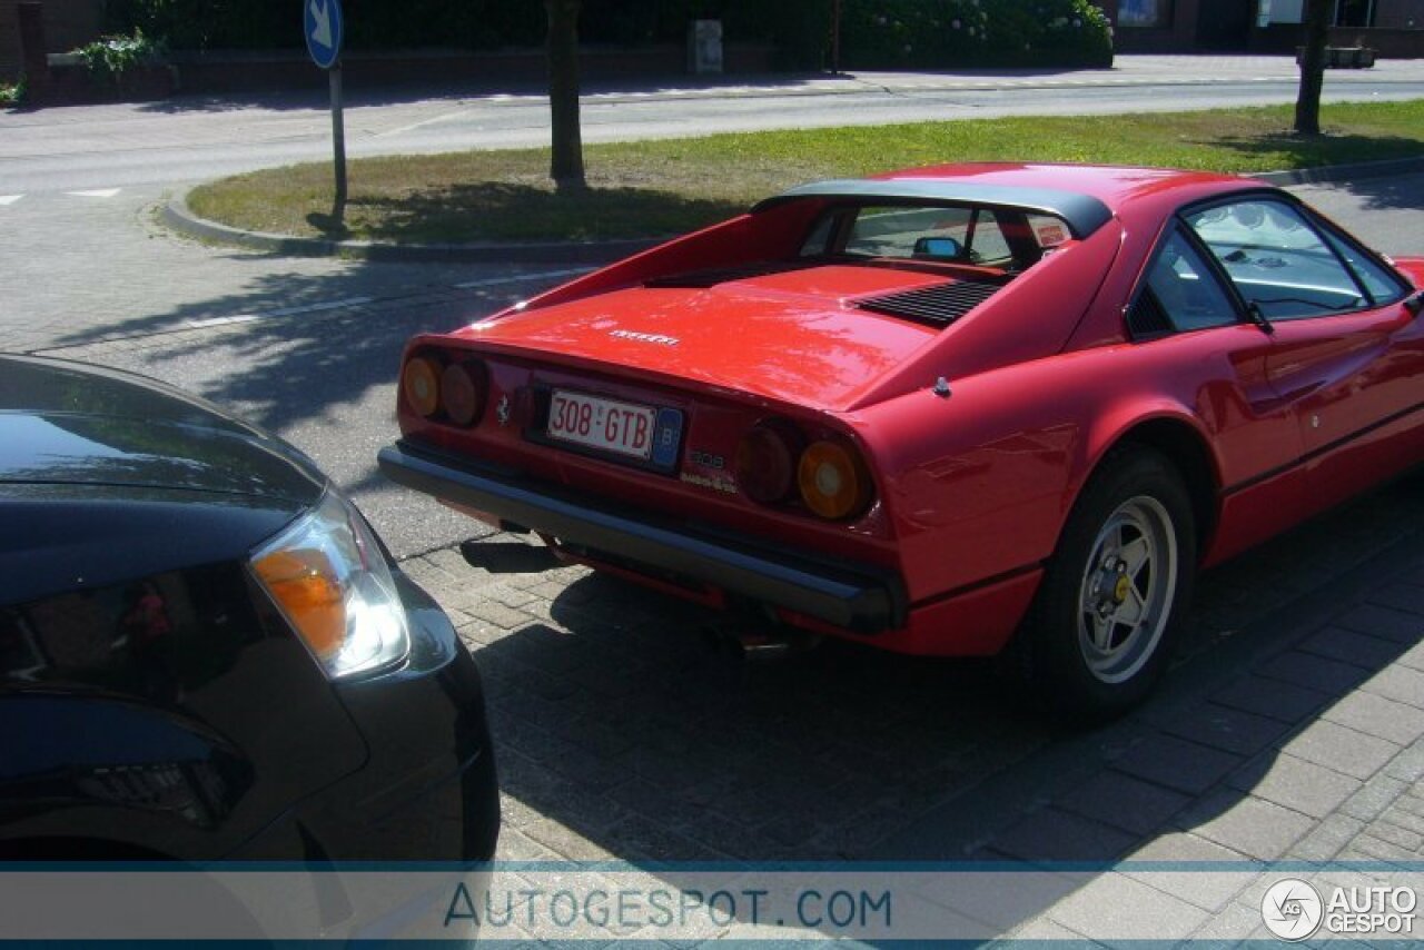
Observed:
[[[486,672],[504,859],[1418,862],[1421,516],[1415,477],[1208,574],[1165,689],[1088,734],[981,664],[735,667],[699,608],[510,536],[406,568]],[[1075,875],[995,926],[1245,933],[1267,877]]]

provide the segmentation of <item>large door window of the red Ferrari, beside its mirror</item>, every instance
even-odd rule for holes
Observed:
[[[1368,296],[1300,214],[1252,198],[1186,215],[1247,306],[1272,320],[1356,310]]]

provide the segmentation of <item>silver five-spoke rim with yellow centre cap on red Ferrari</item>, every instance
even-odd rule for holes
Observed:
[[[1131,678],[1156,652],[1176,597],[1176,531],[1156,499],[1124,501],[1104,523],[1078,593],[1078,648],[1102,682]]]

